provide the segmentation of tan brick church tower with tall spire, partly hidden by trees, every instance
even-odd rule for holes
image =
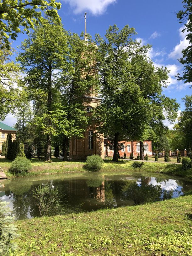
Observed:
[[[87,39],[87,27],[86,27],[86,14],[85,17],[85,34],[84,40]],[[93,85],[94,87],[94,85]],[[87,115],[92,115],[92,110],[97,107],[101,102],[101,98],[98,97],[95,90],[91,90],[90,93],[84,95],[83,104],[87,110]],[[84,131],[84,138],[78,138],[73,136],[69,142],[69,157],[74,160],[86,159],[89,155],[99,155],[104,158],[104,136],[97,134],[98,124],[92,120],[88,125],[86,131]]]

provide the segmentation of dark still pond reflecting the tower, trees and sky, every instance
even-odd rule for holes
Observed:
[[[185,195],[192,189],[190,180],[157,173],[59,173],[0,180],[0,200],[9,202],[16,219],[40,216],[33,197],[40,184],[59,190],[62,214],[145,204]]]

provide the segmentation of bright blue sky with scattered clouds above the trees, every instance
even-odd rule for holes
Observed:
[[[93,37],[96,33],[104,36],[109,25],[116,24],[120,29],[126,24],[134,27],[136,38],[144,44],[151,44],[149,56],[156,66],[166,66],[169,73],[169,85],[164,89],[166,96],[177,99],[184,109],[181,99],[191,94],[189,84],[178,82],[174,77],[183,67],[177,60],[181,50],[188,46],[181,32],[184,24],[179,24],[176,13],[183,9],[181,0],[62,0],[59,10],[64,28],[72,32],[84,31],[84,13],[87,12],[87,32]],[[17,47],[26,38],[19,34],[13,47]],[[15,118],[10,114],[5,119],[8,125],[14,125]],[[166,123],[170,125],[169,123]],[[172,125],[173,126],[173,125]],[[170,127],[172,127],[170,126]]]

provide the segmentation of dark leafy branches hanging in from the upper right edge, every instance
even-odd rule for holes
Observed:
[[[178,80],[184,81],[184,83],[192,82],[192,2],[191,0],[184,0],[184,10],[181,10],[177,13],[177,18],[179,23],[184,24],[184,29],[182,32],[188,32],[186,39],[189,40],[189,46],[184,48],[181,52],[183,54],[182,58],[179,59],[179,62],[184,65],[183,75],[177,74]],[[191,87],[190,87],[191,88]]]

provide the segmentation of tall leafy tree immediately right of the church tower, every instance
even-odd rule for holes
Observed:
[[[103,96],[96,117],[102,124],[100,132],[114,137],[113,161],[118,160],[119,138],[135,139],[146,126],[146,116],[150,115],[148,100],[141,97],[130,61],[136,54],[147,53],[149,46],[141,47],[131,38],[135,34],[135,29],[128,25],[120,31],[114,25],[107,30],[106,39],[96,35]]]

